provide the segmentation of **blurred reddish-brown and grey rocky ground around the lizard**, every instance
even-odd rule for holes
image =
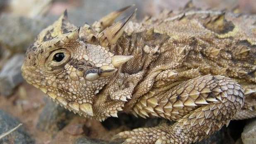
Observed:
[[[56,105],[24,82],[20,67],[36,35],[66,8],[70,21],[82,25],[131,4],[138,7],[137,17],[142,19],[145,15],[157,16],[164,8],[179,9],[186,2],[188,0],[0,0],[0,135],[23,123],[0,139],[0,144],[120,144],[111,142],[111,137],[118,132],[161,123],[157,118],[145,120],[127,114],[118,114],[119,118],[108,118],[103,123],[87,120]],[[29,6],[31,3],[33,7]],[[240,12],[256,12],[253,0],[194,0],[194,3],[204,9],[231,10],[239,5]],[[234,143],[256,143],[256,119],[232,121],[227,128],[197,144]]]

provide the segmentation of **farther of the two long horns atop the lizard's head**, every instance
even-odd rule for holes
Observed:
[[[122,9],[118,9],[114,12],[111,12],[110,14],[104,16],[99,21],[95,21],[92,24],[92,27],[94,30],[96,30],[98,33],[104,30],[106,27],[111,26],[111,24],[114,23],[115,19],[120,16],[126,9],[130,8],[133,5],[130,5],[128,7],[123,7]]]

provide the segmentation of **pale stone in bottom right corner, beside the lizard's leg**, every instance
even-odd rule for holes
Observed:
[[[256,118],[245,125],[241,137],[244,144],[256,143]]]

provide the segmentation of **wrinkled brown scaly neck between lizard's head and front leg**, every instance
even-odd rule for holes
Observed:
[[[147,31],[124,34],[116,46],[109,51],[114,55],[132,55],[131,60],[118,68],[111,81],[95,95],[94,110],[97,119],[117,116],[118,111],[130,111],[137,100],[143,95],[138,88],[143,78],[147,77],[148,69],[159,57],[159,48],[169,37],[158,33],[147,34]],[[154,42],[152,42],[154,41]],[[136,95],[134,95],[136,93]],[[129,103],[129,107],[126,107]]]

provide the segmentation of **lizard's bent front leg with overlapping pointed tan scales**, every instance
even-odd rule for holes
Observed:
[[[193,143],[228,125],[244,104],[241,86],[223,76],[197,77],[150,95],[146,101],[141,98],[140,106],[135,105],[135,113],[177,122],[121,132],[116,137],[126,139],[124,144]]]

